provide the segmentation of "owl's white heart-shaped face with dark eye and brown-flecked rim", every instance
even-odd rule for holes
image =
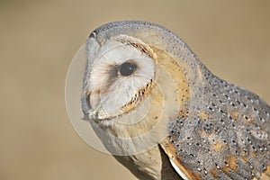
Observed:
[[[89,119],[110,121],[132,112],[157,76],[155,53],[142,40],[118,35],[102,43],[90,38],[83,109]]]

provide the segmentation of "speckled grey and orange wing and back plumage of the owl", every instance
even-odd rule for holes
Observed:
[[[220,179],[259,178],[270,164],[269,106],[256,94],[216,76],[205,74],[204,79],[203,101],[194,108],[197,111],[170,124],[178,156],[202,179],[214,179],[213,170]],[[200,112],[209,117],[200,119]],[[238,117],[232,117],[233,112]],[[210,148],[220,142],[227,147]],[[238,172],[226,174],[222,168],[228,166],[230,157],[237,158]]]

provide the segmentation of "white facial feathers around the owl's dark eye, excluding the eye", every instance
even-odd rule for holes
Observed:
[[[96,42],[88,40],[88,43],[87,47],[91,47]],[[108,40],[97,47],[94,47],[95,51],[87,49],[92,59],[88,59],[87,66],[91,69],[88,69],[90,73],[85,86],[86,92],[90,92],[89,114],[103,119],[121,114],[121,108],[130,103],[135,94],[154,78],[156,67],[154,59],[130,44]],[[121,76],[120,72],[113,71],[113,68],[121,67],[126,62],[136,65],[133,74]]]

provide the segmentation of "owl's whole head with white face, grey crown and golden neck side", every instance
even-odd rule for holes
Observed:
[[[201,62],[157,24],[105,24],[90,34],[86,51],[82,109],[113,136],[150,134],[157,144],[166,137],[167,121],[188,113],[185,106],[200,98],[193,91],[201,88]]]

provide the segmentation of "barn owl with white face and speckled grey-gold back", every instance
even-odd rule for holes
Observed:
[[[86,41],[82,111],[139,179],[270,179],[270,107],[174,32],[107,23]]]

